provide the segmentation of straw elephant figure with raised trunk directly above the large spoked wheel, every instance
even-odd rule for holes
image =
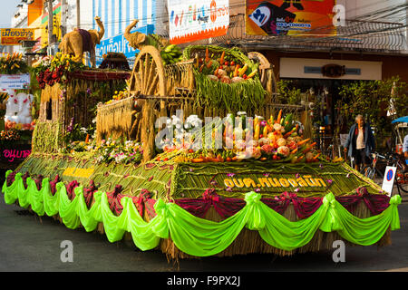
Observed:
[[[136,26],[138,22],[138,19],[133,20],[133,22],[126,27],[123,34],[132,48],[141,50],[141,47],[145,45],[153,45],[160,50],[161,48],[166,47],[170,44],[167,39],[164,39],[157,34],[146,35],[139,32],[131,33],[131,29]]]

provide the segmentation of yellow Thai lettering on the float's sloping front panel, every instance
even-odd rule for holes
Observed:
[[[224,179],[227,188],[326,188],[327,184],[321,178],[313,178],[311,175],[294,178],[269,178],[257,179]]]

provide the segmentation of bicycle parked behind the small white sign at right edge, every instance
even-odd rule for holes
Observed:
[[[360,170],[366,178],[369,179],[384,179],[384,173],[377,168],[378,160],[384,160],[385,166],[396,167],[395,185],[398,189],[398,194],[401,196],[401,191],[408,192],[408,174],[403,172],[402,160],[396,154],[388,153],[384,155],[378,152],[372,153],[373,161],[370,165],[365,166]],[[401,190],[401,191],[400,191]]]

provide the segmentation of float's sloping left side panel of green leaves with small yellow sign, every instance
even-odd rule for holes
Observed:
[[[129,196],[137,196],[141,189],[148,189],[153,193],[152,198],[157,199],[169,194],[173,168],[173,165],[123,165],[114,162],[98,165],[87,153],[77,154],[75,158],[63,154],[34,153],[24,160],[17,171],[49,179],[54,179],[58,174],[61,181],[69,183],[77,180],[83,187],[93,180],[98,189],[106,192],[121,185],[121,193]]]

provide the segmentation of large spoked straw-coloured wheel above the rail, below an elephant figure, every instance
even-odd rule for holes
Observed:
[[[151,45],[143,46],[131,72],[131,95],[166,95],[164,67],[160,52]]]

